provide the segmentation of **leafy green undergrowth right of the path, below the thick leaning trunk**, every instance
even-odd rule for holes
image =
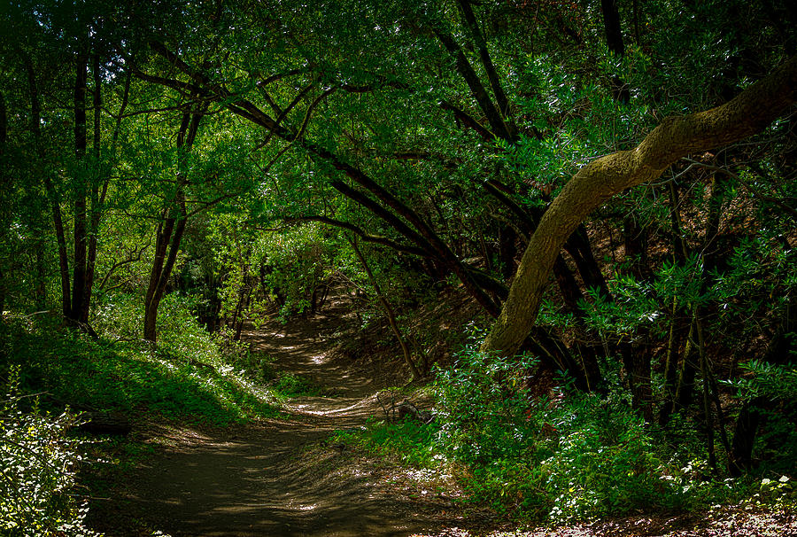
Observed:
[[[645,424],[617,393],[579,393],[565,383],[553,396],[532,397],[525,375],[535,366],[468,348],[437,371],[433,424],[371,422],[337,439],[452,473],[474,502],[521,522],[793,505],[791,476],[713,474],[685,422],[673,420],[677,431]]]

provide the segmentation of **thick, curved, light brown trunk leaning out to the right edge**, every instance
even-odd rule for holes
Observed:
[[[667,118],[635,149],[612,153],[582,168],[539,222],[483,350],[517,352],[537,320],[561,246],[594,209],[619,192],[653,181],[685,155],[754,135],[795,100],[797,56],[728,103],[705,112]]]

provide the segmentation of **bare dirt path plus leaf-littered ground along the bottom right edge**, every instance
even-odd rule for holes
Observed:
[[[352,364],[329,354],[329,341],[347,337],[351,322],[338,305],[287,327],[268,323],[247,332],[253,349],[272,356],[277,370],[311,378],[335,395],[293,399],[285,405],[290,418],[230,430],[150,424],[147,432],[161,448],[112,500],[89,511],[105,518],[98,529],[109,537],[797,535],[791,512],[738,508],[707,518],[662,514],[492,533],[496,521],[464,516],[452,497],[459,494],[453,479],[407,471],[327,441],[333,432],[381,416],[375,393],[397,384],[389,374],[395,364],[382,369],[378,361]]]

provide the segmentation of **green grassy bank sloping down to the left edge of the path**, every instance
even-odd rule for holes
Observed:
[[[20,389],[44,392],[43,403],[53,409],[150,413],[215,425],[278,414],[275,397],[236,372],[190,314],[177,321],[167,320],[157,347],[105,334],[93,341],[46,323],[4,324],[0,370],[19,365]]]

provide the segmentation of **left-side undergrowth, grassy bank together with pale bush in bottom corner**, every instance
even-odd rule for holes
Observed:
[[[190,300],[163,301],[157,345],[140,339],[141,319],[140,300],[117,294],[91,319],[97,339],[46,315],[0,323],[0,534],[97,534],[79,498],[103,495],[151,453],[135,435],[80,440],[81,410],[213,426],[279,413],[282,395],[244,371],[247,350],[203,330]]]

